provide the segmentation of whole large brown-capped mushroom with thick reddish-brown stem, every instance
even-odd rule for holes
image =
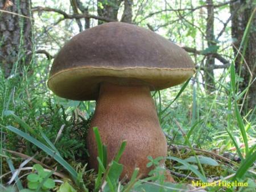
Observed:
[[[148,156],[167,155],[150,91],[181,84],[195,73],[182,48],[154,32],[133,24],[111,22],[82,31],[57,54],[48,80],[56,95],[79,101],[96,100],[86,139],[89,165],[97,169],[98,127],[108,150],[108,162],[123,140],[121,177],[139,168],[143,176]],[[162,162],[163,163],[163,162]]]

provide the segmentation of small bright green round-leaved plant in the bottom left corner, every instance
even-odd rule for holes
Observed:
[[[30,173],[27,176],[28,189],[23,189],[21,192],[47,192],[55,187],[55,182],[52,178],[49,178],[53,172],[46,172],[43,166],[39,164],[35,164],[32,170],[35,171],[35,173]]]

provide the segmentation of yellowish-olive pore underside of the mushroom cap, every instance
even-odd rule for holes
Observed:
[[[186,81],[193,68],[95,68],[92,66],[62,70],[53,74],[49,88],[58,96],[73,100],[96,100],[101,82],[121,85],[147,85],[161,90]]]

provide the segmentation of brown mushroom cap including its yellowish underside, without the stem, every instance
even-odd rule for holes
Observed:
[[[112,22],[74,36],[57,54],[48,86],[56,95],[95,100],[101,82],[166,89],[195,73],[191,57],[164,37]]]

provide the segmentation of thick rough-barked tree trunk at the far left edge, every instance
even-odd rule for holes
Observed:
[[[30,5],[30,0],[0,1],[0,9],[29,18]],[[11,73],[21,73],[31,59],[27,56],[32,50],[31,20],[19,15],[0,12],[0,64],[6,78]]]

